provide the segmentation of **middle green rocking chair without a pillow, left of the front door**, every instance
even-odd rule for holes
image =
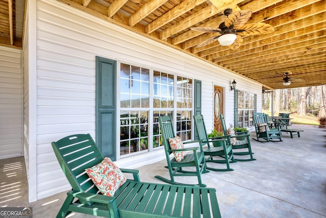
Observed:
[[[207,145],[207,147],[203,147],[205,156],[208,156],[208,158],[206,158],[206,163],[225,163],[227,166],[227,168],[215,168],[208,166],[206,166],[206,168],[212,171],[233,171],[233,169],[230,168],[230,163],[234,163],[236,161],[233,158],[232,146],[230,143],[228,143],[228,140],[221,137],[208,138],[202,115],[194,115],[194,122],[199,140],[202,140],[203,146]],[[218,145],[214,146],[216,144]],[[216,160],[213,157],[222,157],[223,159]]]

